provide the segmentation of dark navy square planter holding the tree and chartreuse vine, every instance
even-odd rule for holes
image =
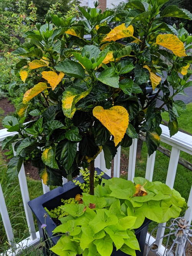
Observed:
[[[99,168],[96,168],[96,171],[98,174],[101,173],[101,170]],[[111,177],[104,174],[102,178],[109,180]],[[78,178],[76,178],[76,180],[79,180],[81,183],[84,183],[82,176],[79,176]],[[53,221],[53,219],[50,218],[49,215],[48,217],[46,217],[46,228],[45,228],[46,232],[43,228],[41,228],[41,225],[45,223],[44,214],[45,213],[47,214],[44,207],[46,207],[48,210],[54,209],[55,207],[58,207],[61,204],[62,198],[63,199],[73,198],[76,196],[76,194],[81,192],[82,190],[79,188],[78,185],[75,185],[72,181],[69,181],[63,187],[55,188],[54,190],[51,190],[50,192],[43,194],[38,198],[35,198],[30,202],[28,202],[31,210],[36,216],[40,237],[43,238],[44,241],[47,240],[47,238],[50,238],[51,246],[55,245],[61,236],[58,236],[58,235],[56,236],[52,234],[53,229],[56,228],[56,224]],[[145,219],[142,226],[138,229],[135,229],[135,235],[137,240],[139,241],[139,246],[141,249],[141,252],[136,251],[136,256],[143,256],[147,230],[150,222],[151,221],[149,219]],[[116,249],[114,248],[111,256],[128,256],[128,255],[126,253],[123,253],[121,250],[116,251]]]

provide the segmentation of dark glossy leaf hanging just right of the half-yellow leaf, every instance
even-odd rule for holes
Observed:
[[[56,156],[58,161],[67,172],[73,164],[76,151],[77,143],[70,140],[60,141],[56,147]]]

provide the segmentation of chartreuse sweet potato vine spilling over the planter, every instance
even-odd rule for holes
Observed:
[[[115,246],[136,256],[139,244],[134,229],[145,218],[159,223],[177,218],[185,199],[159,181],[138,177],[134,183],[103,179],[94,196],[83,193],[82,204],[60,206],[69,215],[60,218],[62,224],[54,229],[53,234],[63,235],[51,251],[60,256],[110,256]]]

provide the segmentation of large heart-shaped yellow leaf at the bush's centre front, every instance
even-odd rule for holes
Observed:
[[[122,106],[113,106],[104,109],[102,106],[96,106],[93,109],[93,115],[104,125],[114,136],[115,146],[122,140],[129,124],[129,114]]]

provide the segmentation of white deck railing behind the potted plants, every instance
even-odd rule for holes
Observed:
[[[166,184],[173,188],[174,181],[175,181],[175,175],[177,172],[177,165],[179,160],[179,154],[180,151],[184,151],[186,153],[189,153],[192,155],[192,136],[187,135],[182,132],[178,132],[176,135],[172,136],[170,138],[169,136],[169,129],[168,127],[161,125],[162,128],[162,135],[161,141],[172,146],[171,155],[170,155],[170,161],[169,161],[169,167],[167,170],[167,178],[166,178]],[[10,133],[7,132],[7,129],[0,130],[0,142],[4,140],[7,136],[14,136],[16,132]],[[133,143],[129,150],[129,166],[128,166],[128,180],[132,180],[135,175],[135,165],[136,165],[136,150],[137,150],[137,139],[133,140]],[[14,152],[15,154],[15,152]],[[118,148],[117,155],[114,158],[114,177],[119,177],[120,172],[120,155],[121,155],[121,148]],[[146,165],[146,179],[149,181],[152,181],[153,178],[153,171],[154,171],[154,163],[156,158],[156,152],[154,152],[150,157],[147,158],[147,165]],[[96,167],[99,167],[101,170],[106,170],[105,167],[105,161],[104,161],[104,155],[103,153],[99,154],[99,156],[96,158]],[[111,170],[107,170],[106,172],[109,176],[111,176]],[[26,183],[26,177],[25,177],[25,169],[22,165],[22,168],[19,173],[19,183],[20,183],[20,189],[22,193],[22,199],[23,199],[23,205],[25,208],[25,214],[26,214],[26,220],[28,224],[28,229],[30,231],[30,238],[23,240],[21,243],[23,246],[31,246],[39,241],[39,233],[35,230],[35,225],[32,217],[32,212],[28,206],[29,201],[29,193],[28,193],[28,187]],[[67,180],[63,179],[63,183],[66,183]],[[46,193],[49,191],[49,187],[43,185],[43,193]],[[189,184],[191,186],[189,199],[188,199],[188,206],[189,208],[185,212],[185,218],[189,220],[189,222],[192,221],[192,184]],[[5,199],[3,197],[3,191],[0,185],[0,213],[2,216],[3,224],[5,226],[5,231],[7,234],[8,241],[10,241],[15,248],[17,248],[17,244],[15,245],[13,243],[14,241],[14,235],[12,231],[12,226],[10,223],[10,218],[8,216],[7,207],[5,204]],[[159,224],[160,226],[164,226],[165,223]],[[164,234],[164,229],[160,228],[157,232],[157,237],[160,238]],[[147,237],[148,238],[148,237]],[[154,241],[154,238],[151,238],[150,244]],[[162,246],[162,241],[159,241],[159,251],[158,254],[160,256],[164,253],[164,246]],[[16,254],[13,254],[10,252],[10,255],[17,255],[17,250],[15,251]]]

